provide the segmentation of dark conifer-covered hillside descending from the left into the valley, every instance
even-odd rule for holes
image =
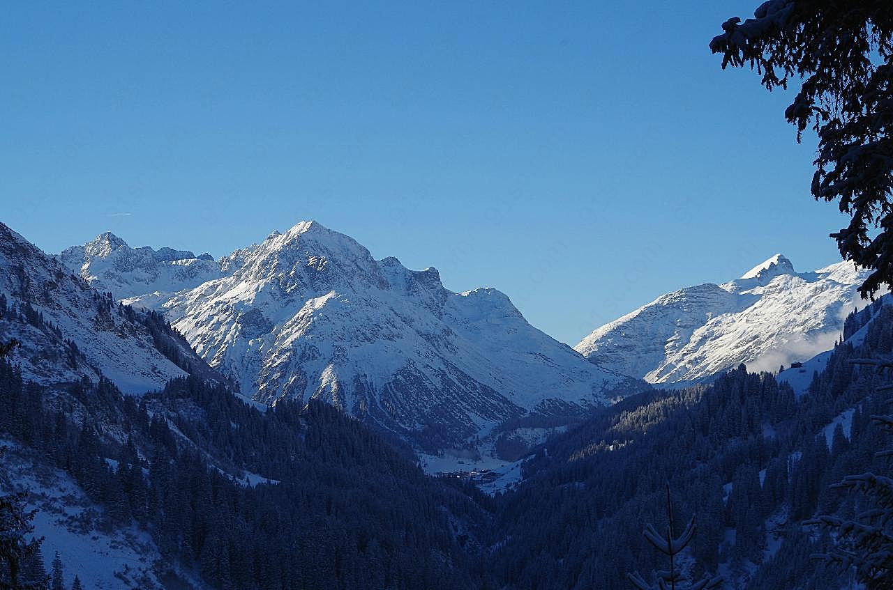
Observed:
[[[197,570],[215,588],[486,586],[472,555],[488,497],[424,476],[321,402],[262,413],[196,378],[141,399],[105,380],[57,395],[0,362],[0,430],[104,507],[88,527],[150,531],[162,577]]]

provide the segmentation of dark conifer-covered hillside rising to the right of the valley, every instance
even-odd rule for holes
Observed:
[[[810,561],[831,541],[801,522],[860,512],[854,496],[829,486],[887,472],[874,453],[889,441],[870,416],[884,413],[890,394],[874,388],[889,378],[849,363],[893,351],[890,307],[872,306],[849,330],[872,311],[862,345],[837,346],[799,399],[741,366],[709,386],[628,398],[548,441],[499,502],[497,578],[524,590],[614,588],[632,570],[665,569],[642,529],[665,528],[669,482],[675,525],[697,514],[694,573],[718,572],[727,587],[841,587],[851,572]]]

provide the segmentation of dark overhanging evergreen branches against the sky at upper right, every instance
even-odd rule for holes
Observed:
[[[797,140],[819,137],[812,193],[851,216],[831,234],[840,254],[874,269],[864,296],[893,284],[893,10],[889,0],[769,0],[710,43],[722,67],[749,65],[768,90],[803,78],[785,111]],[[880,232],[873,231],[880,228]]]

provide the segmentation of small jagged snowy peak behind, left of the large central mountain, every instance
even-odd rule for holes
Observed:
[[[114,293],[116,299],[148,293],[157,293],[156,299],[168,299],[171,293],[223,275],[210,254],[196,257],[189,250],[130,248],[108,232],[92,242],[63,250],[57,258],[91,287]]]

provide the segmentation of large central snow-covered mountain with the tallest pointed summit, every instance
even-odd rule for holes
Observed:
[[[321,397],[443,447],[642,385],[533,328],[503,293],[447,291],[436,269],[377,261],[316,222],[227,259],[228,275],[163,308],[199,355],[263,403]]]

